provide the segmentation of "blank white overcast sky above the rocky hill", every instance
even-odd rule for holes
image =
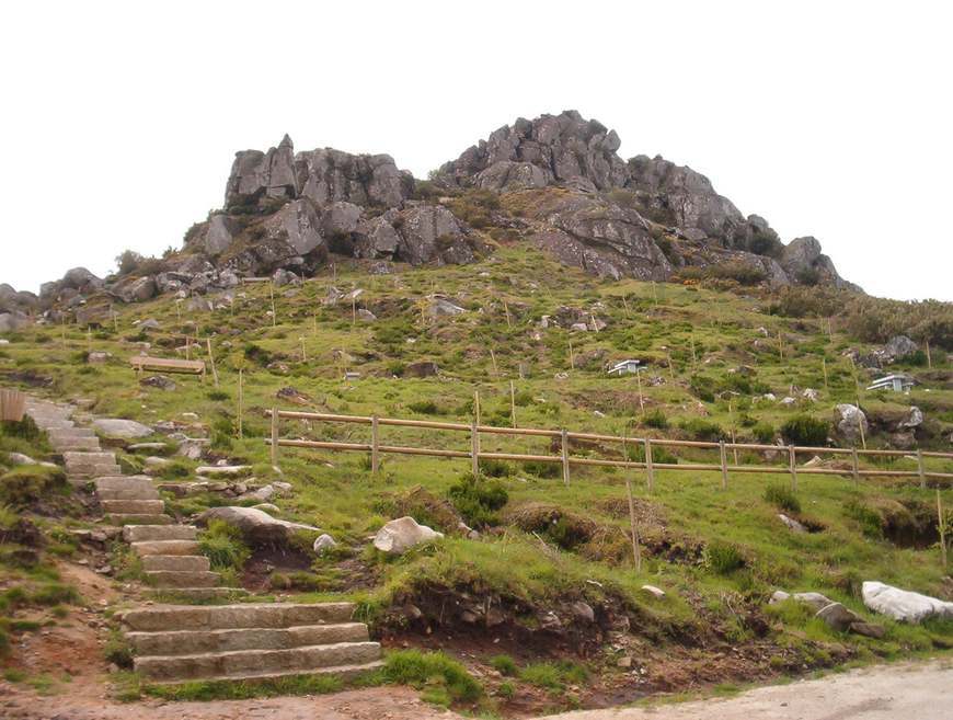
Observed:
[[[953,300],[950,3],[781,5],[4,2],[0,282],[179,247],[286,132],[422,178],[576,108],[869,293]]]

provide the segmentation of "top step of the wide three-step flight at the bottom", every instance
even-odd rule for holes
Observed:
[[[130,630],[223,630],[229,628],[290,628],[349,622],[354,603],[249,603],[241,605],[153,605],[127,610]]]

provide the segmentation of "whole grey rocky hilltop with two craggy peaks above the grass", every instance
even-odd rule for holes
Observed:
[[[223,290],[243,276],[284,284],[334,255],[381,273],[392,263],[467,264],[507,242],[533,243],[600,277],[667,281],[721,267],[771,286],[859,289],[815,238],[784,244],[704,175],[662,157],[623,160],[619,147],[615,130],[575,111],[519,118],[415,181],[388,155],[296,152],[285,136],[265,152],[236,155],[222,207],[188,229],[181,251],[127,253],[105,281],[76,268],[38,297],[2,286],[0,322],[53,307],[90,321],[81,306],[95,294],[135,302]]]

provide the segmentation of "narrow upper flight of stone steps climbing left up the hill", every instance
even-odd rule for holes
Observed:
[[[198,529],[176,525],[165,514],[165,502],[151,478],[123,475],[116,454],[103,452],[91,428],[76,425],[73,408],[30,398],[26,412],[62,455],[68,480],[74,485],[93,483],[103,522],[123,528],[123,538],[141,559],[151,585],[195,599],[244,593],[219,587],[221,576],[198,552]]]

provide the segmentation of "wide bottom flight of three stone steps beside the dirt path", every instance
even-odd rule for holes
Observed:
[[[379,667],[380,644],[353,615],[352,603],[156,605],[122,620],[135,670],[150,683],[181,683],[348,677]]]

